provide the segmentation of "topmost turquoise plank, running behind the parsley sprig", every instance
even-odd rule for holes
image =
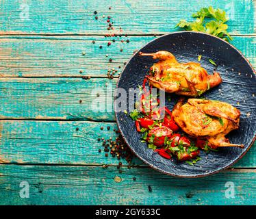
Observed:
[[[233,34],[254,34],[254,3],[253,0],[1,1],[0,33],[103,34],[107,33],[107,16],[111,16],[117,31],[122,27],[128,34],[158,34],[174,31],[181,18],[192,20],[192,13],[212,5],[227,11]],[[98,20],[94,18],[95,10]]]

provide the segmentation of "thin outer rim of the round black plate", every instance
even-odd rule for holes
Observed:
[[[246,60],[247,64],[251,67],[251,69],[253,70],[253,73],[256,75],[256,71],[255,69],[253,68],[253,65],[248,61],[248,59],[242,54],[242,52],[237,49],[236,47],[234,47],[231,43],[227,42],[226,40],[223,40],[222,38],[219,38],[217,36],[213,36],[211,34],[207,34],[207,33],[203,33],[203,32],[200,32],[200,31],[174,31],[174,32],[170,32],[170,33],[167,33],[167,34],[164,34],[162,36],[159,36],[149,42],[147,42],[146,44],[144,44],[142,47],[140,47],[140,49],[138,49],[136,51],[136,53],[133,53],[133,55],[131,55],[131,57],[129,58],[129,60],[127,61],[127,64],[131,61],[131,59],[133,57],[135,57],[141,49],[143,49],[144,47],[146,47],[148,44],[150,44],[151,42],[155,41],[155,40],[158,40],[159,38],[163,38],[165,36],[168,36],[168,35],[172,35],[172,34],[183,34],[183,33],[192,33],[192,34],[202,34],[202,35],[206,35],[206,36],[210,36],[210,37],[213,37],[213,38],[216,38],[217,40],[221,40],[222,42],[225,42],[226,44],[229,44],[229,46],[233,47],[233,49],[235,49],[235,51],[238,51],[238,53],[240,53],[240,55],[242,55],[242,57],[244,58],[244,60]],[[125,65],[125,68],[123,68],[123,70],[121,71],[120,73],[120,76],[118,77],[118,80],[116,82],[116,88],[118,88],[118,85],[120,83],[120,77],[121,75],[123,75],[123,72],[125,71],[125,69],[127,68],[127,64]],[[116,89],[115,89],[116,90]],[[248,146],[248,148],[246,149],[246,151],[244,151],[244,153],[242,153],[240,155],[240,157],[238,157],[237,159],[234,159],[230,164],[228,164],[227,166],[225,167],[222,167],[222,168],[218,168],[217,170],[213,171],[213,172],[209,172],[209,173],[203,173],[203,174],[199,174],[199,175],[190,175],[190,176],[185,176],[185,175],[176,175],[176,174],[172,174],[170,172],[167,172],[165,170],[162,170],[160,168],[158,168],[157,166],[153,166],[153,164],[149,163],[146,159],[144,159],[143,157],[141,157],[140,155],[138,155],[138,153],[136,153],[135,150],[132,149],[132,147],[129,145],[128,141],[127,141],[127,138],[125,137],[123,131],[120,129],[120,122],[119,120],[117,119],[117,112],[116,112],[116,100],[114,99],[114,114],[115,114],[115,118],[116,118],[116,124],[118,126],[118,129],[120,131],[120,134],[121,136],[123,137],[123,139],[125,140],[125,143],[127,144],[127,146],[129,146],[129,149],[131,149],[131,151],[136,155],[136,157],[138,157],[139,159],[142,160],[142,162],[144,162],[145,164],[149,165],[150,168],[153,168],[154,170],[157,170],[158,172],[162,172],[164,173],[165,175],[169,175],[169,176],[172,176],[172,177],[178,177],[178,178],[190,178],[190,179],[194,179],[194,178],[202,178],[202,177],[207,177],[207,176],[210,176],[210,175],[214,175],[222,170],[227,170],[227,168],[230,168],[231,166],[233,166],[233,164],[237,163],[240,159],[242,159],[242,157],[244,157],[244,155],[246,155],[246,153],[249,151],[249,149],[251,149],[251,146],[253,146],[255,140],[256,140],[256,135],[253,137],[253,140],[251,142],[251,144]]]

